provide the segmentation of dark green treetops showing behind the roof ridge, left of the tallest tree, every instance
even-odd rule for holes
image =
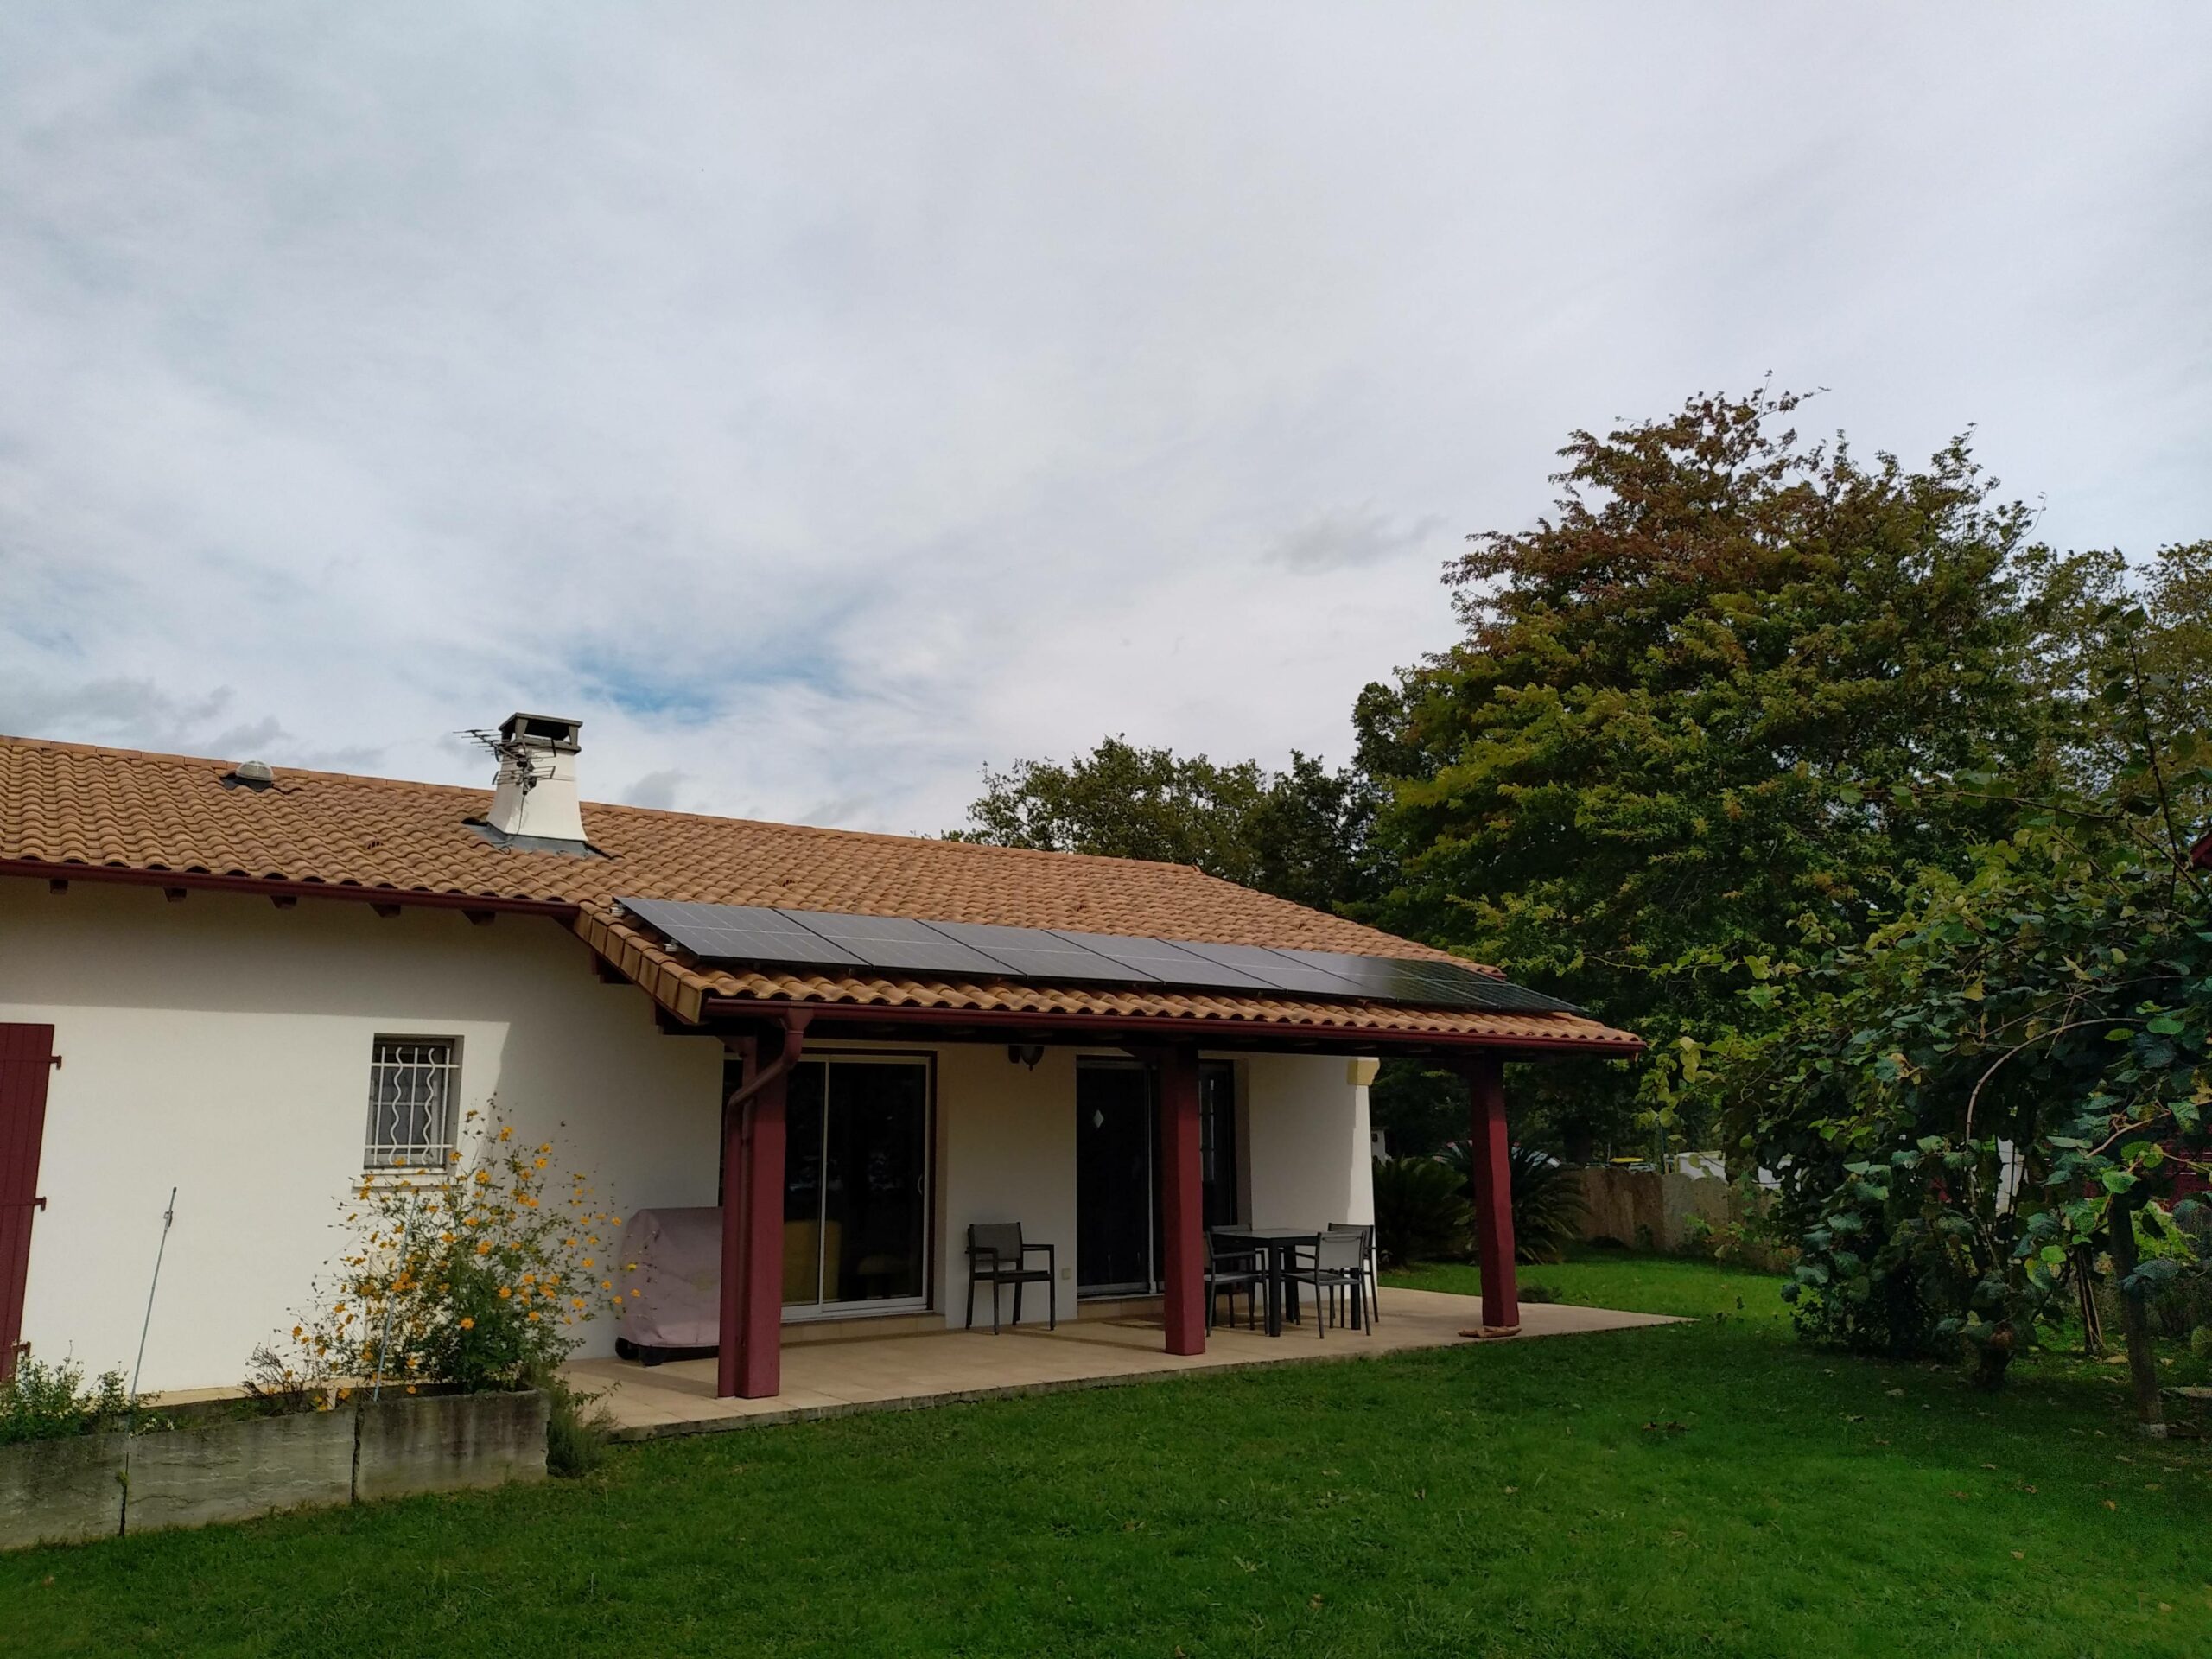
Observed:
[[[1371,887],[1371,792],[1356,772],[1307,754],[1270,772],[1099,741],[1068,763],[1015,761],[984,772],[984,792],[953,841],[1197,865],[1314,909],[1338,909]]]

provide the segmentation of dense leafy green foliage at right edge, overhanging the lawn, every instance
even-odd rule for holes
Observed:
[[[2097,703],[2108,730],[2132,726],[2135,759],[1964,874],[1924,869],[1867,940],[1754,989],[1781,1022],[1734,1060],[1756,1102],[1741,1144],[1778,1170],[1778,1221],[1805,1245],[1787,1292],[1805,1327],[1893,1354],[1964,1338],[1995,1385],[2066,1274],[2106,1254],[2157,1429],[2146,1303],[2185,1252],[2141,1256],[2139,1237],[2208,1168],[2212,878],[2177,801],[2212,790],[2212,748],[2152,741],[2148,617],[2101,630]]]

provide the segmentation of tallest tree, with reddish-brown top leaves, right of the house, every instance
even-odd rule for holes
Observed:
[[[1557,511],[1473,535],[1464,639],[1358,706],[1396,880],[1376,918],[1637,1029],[1648,1066],[1528,1079],[1586,1152],[1699,1095],[1739,991],[1863,938],[2000,801],[1913,787],[2042,779],[2051,591],[1964,440],[1924,467],[1801,442],[1798,398],[1694,398],[1573,434]]]

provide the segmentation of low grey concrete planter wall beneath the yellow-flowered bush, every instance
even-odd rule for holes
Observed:
[[[425,1394],[0,1447],[0,1548],[544,1480],[542,1394]]]

